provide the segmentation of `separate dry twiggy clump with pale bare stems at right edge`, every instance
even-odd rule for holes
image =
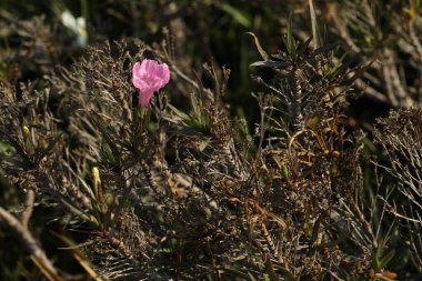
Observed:
[[[402,221],[402,239],[410,245],[412,260],[422,268],[422,112],[415,109],[391,112],[389,118],[379,120],[375,140],[385,151],[388,165],[375,162],[391,174],[400,195],[385,197],[388,209]]]

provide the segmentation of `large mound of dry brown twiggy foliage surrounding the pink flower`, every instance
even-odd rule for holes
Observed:
[[[3,133],[2,141],[13,147],[2,161],[10,182],[73,213],[69,223],[90,232],[82,245],[103,278],[199,280],[262,272],[323,278],[344,267],[348,253],[326,245],[339,239],[335,210],[341,198],[352,198],[360,188],[360,171],[358,140],[345,133],[341,112],[322,107],[312,122],[308,112],[315,111],[309,107],[290,129],[278,128],[272,122],[282,122],[281,116],[267,110],[277,107],[261,101],[263,120],[272,127],[260,124],[258,136],[273,128],[275,137],[287,137],[270,133],[272,140],[260,141],[251,153],[248,145],[242,150],[240,132],[219,106],[227,70],[219,78],[214,66],[208,67],[215,87],[207,91],[173,71],[175,81],[184,79],[180,83],[191,87],[191,114],[162,94],[147,113],[132,106],[138,101],[132,101],[128,70],[145,51],[175,68],[165,49],[120,42],[91,49],[71,69],[49,78],[48,91],[23,87],[27,99],[34,99],[31,104],[3,107],[3,132],[18,136]],[[339,87],[322,81],[320,93]],[[298,94],[284,91],[261,99],[277,102]],[[67,136],[54,134],[57,124],[41,103],[46,92],[61,101],[58,112],[67,120]],[[3,100],[18,103],[12,89]],[[301,100],[309,104],[313,98]],[[294,107],[302,110],[303,104]],[[20,119],[27,110],[27,119]],[[32,172],[17,164],[24,159]],[[321,257],[315,260],[315,254]]]

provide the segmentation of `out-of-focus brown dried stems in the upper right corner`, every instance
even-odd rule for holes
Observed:
[[[400,1],[332,2],[330,19],[354,52],[382,61],[373,63],[364,76],[370,81],[365,91],[393,107],[413,107],[419,104],[421,96],[419,81],[413,77],[421,73],[420,19],[414,13],[409,17],[396,12],[400,8]],[[414,6],[411,9],[415,11]]]

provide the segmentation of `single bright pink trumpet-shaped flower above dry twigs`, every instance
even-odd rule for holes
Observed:
[[[139,89],[139,103],[142,108],[148,106],[152,94],[170,81],[170,70],[165,63],[154,60],[143,60],[134,63],[132,68],[132,82]]]

